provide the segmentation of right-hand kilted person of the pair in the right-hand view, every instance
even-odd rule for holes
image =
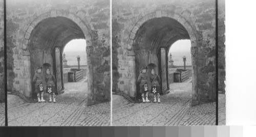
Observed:
[[[161,103],[160,94],[159,94],[161,79],[159,75],[156,74],[154,69],[151,70],[151,74],[152,75],[150,76],[150,82],[151,82],[151,85],[153,85],[151,88],[151,92],[154,94],[154,103],[157,102],[157,97],[158,97],[158,103]]]

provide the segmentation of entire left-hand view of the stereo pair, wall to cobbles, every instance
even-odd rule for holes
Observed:
[[[6,1],[8,126],[110,126],[110,1]]]

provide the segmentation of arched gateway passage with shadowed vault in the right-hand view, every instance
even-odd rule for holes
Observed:
[[[133,42],[129,43],[133,43],[136,78],[139,76],[139,70],[142,67],[150,64],[157,65],[156,73],[162,79],[161,89],[165,93],[169,89],[167,68],[170,46],[182,39],[190,39],[191,49],[196,47],[197,44],[193,29],[183,17],[176,14],[170,15],[170,17],[156,16],[156,13],[151,13],[140,19],[130,34],[130,41]],[[181,22],[177,21],[177,19]],[[143,22],[143,20],[146,21]],[[195,64],[197,57],[194,52],[191,52],[191,54],[193,62],[192,104],[194,105],[198,104],[197,66]]]

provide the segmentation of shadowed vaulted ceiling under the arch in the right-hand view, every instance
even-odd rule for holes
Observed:
[[[169,17],[153,18],[140,26],[134,48],[157,51],[160,47],[168,47],[180,39],[189,39],[181,23]]]

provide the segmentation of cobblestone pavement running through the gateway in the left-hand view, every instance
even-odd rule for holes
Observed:
[[[27,103],[8,95],[10,126],[108,126],[110,102],[87,106],[87,83],[67,83],[57,103]],[[46,98],[45,100],[49,100]]]

